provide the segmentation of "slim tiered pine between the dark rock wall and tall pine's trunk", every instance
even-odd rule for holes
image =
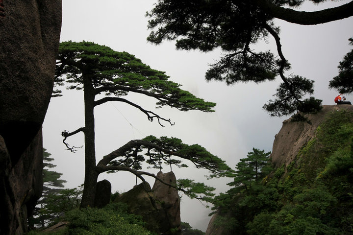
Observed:
[[[62,173],[49,170],[49,168],[56,166],[50,163],[54,160],[50,156],[51,154],[47,152],[47,149],[43,148],[43,193],[37,202],[32,217],[29,219],[30,223],[40,227],[45,227],[48,221],[54,217],[51,213],[45,212],[48,206],[48,196],[62,190],[61,188],[64,188],[63,184],[66,183],[66,180],[60,179]]]

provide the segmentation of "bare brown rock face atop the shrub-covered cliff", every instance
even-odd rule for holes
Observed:
[[[322,123],[326,114],[341,109],[353,111],[353,105],[324,105],[319,113],[305,116],[311,124],[292,121],[292,118],[283,121],[282,128],[276,135],[273,144],[272,162],[277,167],[292,162],[299,150],[314,137],[317,127]]]

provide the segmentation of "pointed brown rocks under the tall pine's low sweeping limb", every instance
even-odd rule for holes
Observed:
[[[160,171],[157,177],[167,183],[176,184],[173,172],[163,174]],[[114,202],[126,203],[129,212],[141,215],[147,229],[151,231],[167,235],[171,234],[171,229],[179,230],[180,199],[177,190],[157,180],[153,189],[147,182],[141,183],[117,197]]]

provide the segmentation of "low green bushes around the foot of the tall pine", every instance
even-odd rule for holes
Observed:
[[[112,198],[118,194],[112,194]],[[63,221],[66,226],[48,232],[43,230],[45,228],[33,229],[27,235],[157,235],[146,228],[141,216],[129,213],[125,203],[111,202],[101,209],[79,209],[77,199],[80,195],[82,187],[62,189],[50,194],[45,198],[47,204],[38,216],[50,217],[49,221],[46,220],[48,227]],[[73,201],[76,203],[73,204]],[[183,222],[181,231],[182,235],[204,235],[202,231],[192,229],[188,223]]]

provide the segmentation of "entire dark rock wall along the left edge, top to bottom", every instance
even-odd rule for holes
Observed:
[[[40,197],[41,126],[53,87],[61,1],[0,2],[0,234],[23,234]]]

